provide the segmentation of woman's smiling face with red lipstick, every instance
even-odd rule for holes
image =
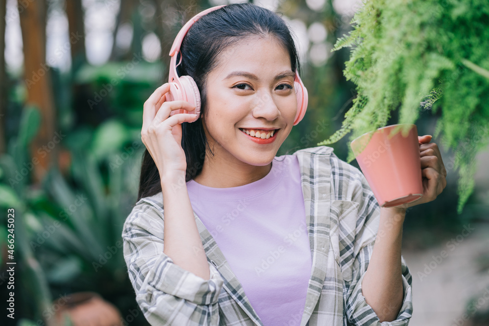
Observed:
[[[217,60],[207,76],[202,117],[214,159],[267,165],[289,135],[298,109],[289,53],[274,37],[251,37]],[[270,130],[275,131],[267,139]]]

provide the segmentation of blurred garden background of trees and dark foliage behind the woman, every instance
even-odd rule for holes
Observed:
[[[331,49],[352,29],[358,5],[254,2],[282,13],[292,27],[309,92],[307,114],[277,155],[314,147],[341,127],[356,98],[355,85],[343,76],[350,50]],[[167,82],[167,54],[181,26],[224,3],[0,0],[0,285],[10,260],[6,211],[15,208],[15,323],[54,325],[56,298],[93,291],[117,308],[122,325],[148,325],[119,245],[137,197],[143,103]],[[434,134],[440,112],[419,112],[420,135]],[[387,124],[397,122],[394,111]],[[443,150],[436,137],[432,141]],[[346,160],[346,138],[329,146]],[[488,219],[487,175],[457,215],[457,171],[447,164],[452,153],[442,155],[448,186],[435,201],[409,210],[407,246],[433,246],[469,222]],[[0,321],[18,325],[5,314]]]

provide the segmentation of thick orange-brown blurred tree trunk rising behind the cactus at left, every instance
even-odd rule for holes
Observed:
[[[55,162],[58,148],[54,142],[56,113],[49,66],[46,64],[46,1],[32,1],[27,6],[19,0],[19,13],[24,52],[24,82],[27,87],[25,105],[35,105],[41,113],[41,126],[31,145],[31,158],[39,161],[33,168],[33,183],[39,184]],[[54,145],[54,147],[53,147]],[[45,150],[38,152],[44,146]],[[47,153],[47,155],[46,155]],[[19,162],[22,164],[22,162]]]

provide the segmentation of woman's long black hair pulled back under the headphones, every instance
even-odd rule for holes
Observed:
[[[218,54],[243,38],[267,35],[274,36],[287,49],[292,71],[297,70],[300,75],[299,57],[289,27],[273,11],[252,3],[233,3],[200,17],[190,27],[180,47],[182,60],[177,66],[177,72],[178,76],[187,75],[195,80],[200,91],[201,116],[205,117],[207,111],[206,77],[217,65]],[[185,181],[188,182],[202,171],[205,149],[208,147],[200,117],[195,122],[182,123],[181,145],[187,162]],[[146,149],[141,165],[137,200],[156,195],[160,191],[159,172]]]

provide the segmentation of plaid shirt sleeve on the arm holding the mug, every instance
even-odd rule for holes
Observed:
[[[412,278],[402,256],[403,302],[396,320],[380,323],[375,311],[365,301],[365,297],[362,294],[362,281],[374,250],[380,222],[380,206],[365,176],[360,170],[352,165],[346,166],[347,163],[337,159],[334,154],[333,159],[336,161],[333,165],[342,165],[344,176],[343,189],[339,192],[340,197],[335,199],[351,201],[351,216],[354,217],[354,220],[356,219],[356,225],[352,225],[356,229],[354,244],[344,249],[345,257],[354,257],[353,263],[351,263],[351,282],[345,282],[344,284],[346,287],[345,313],[347,324],[355,326],[407,326],[413,310]]]

